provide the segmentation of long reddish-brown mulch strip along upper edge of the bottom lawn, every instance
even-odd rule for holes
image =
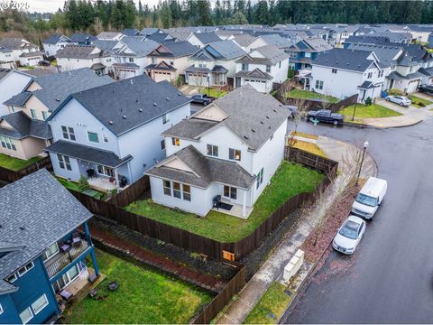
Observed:
[[[197,270],[189,268],[186,265],[181,265],[176,261],[170,260],[166,256],[154,254],[147,249],[134,245],[134,243],[130,243],[122,238],[115,237],[113,234],[105,230],[90,226],[90,233],[96,241],[107,246],[115,247],[117,250],[120,250],[139,261],[142,261],[148,265],[152,265],[156,268],[161,268],[162,271],[169,274],[174,274],[180,277],[180,279],[189,283],[193,283],[216,292],[221,290],[226,285],[225,281],[222,281],[215,275],[201,273]]]

